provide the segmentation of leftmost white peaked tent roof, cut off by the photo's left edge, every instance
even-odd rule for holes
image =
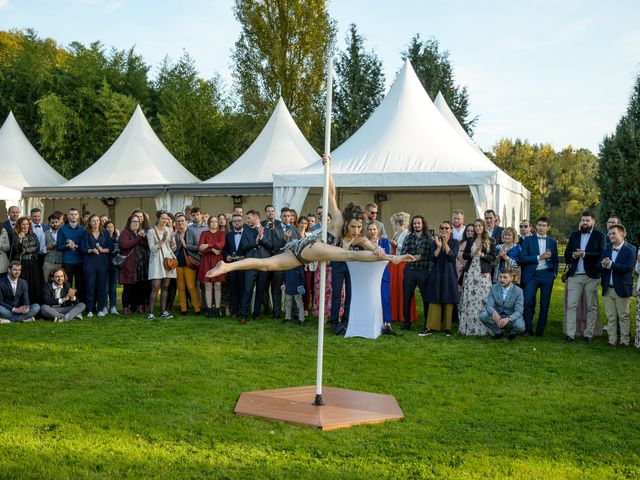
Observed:
[[[65,178],[56,172],[33,148],[20,125],[9,112],[0,128],[0,183],[11,189],[60,185]]]

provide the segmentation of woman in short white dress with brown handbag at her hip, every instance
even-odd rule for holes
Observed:
[[[169,226],[171,217],[166,210],[156,212],[156,224],[147,232],[149,242],[149,280],[151,280],[151,294],[149,295],[149,320],[154,320],[153,310],[160,290],[160,318],[173,318],[167,311],[167,297],[169,281],[177,277],[178,260],[174,255],[176,237]]]

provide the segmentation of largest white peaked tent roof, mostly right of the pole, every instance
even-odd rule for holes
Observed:
[[[499,169],[447,123],[406,61],[371,117],[332,153],[336,186],[493,183]],[[276,186],[321,186],[322,162],[274,174]]]

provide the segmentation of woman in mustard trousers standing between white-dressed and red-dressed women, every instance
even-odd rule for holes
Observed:
[[[196,230],[187,227],[187,217],[176,215],[176,258],[178,259],[177,286],[180,299],[180,311],[187,314],[187,290],[196,315],[200,314],[200,292],[196,286],[196,274],[200,265],[198,238]]]

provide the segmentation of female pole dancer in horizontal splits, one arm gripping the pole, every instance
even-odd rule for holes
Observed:
[[[323,157],[323,163],[330,163],[330,157]],[[329,170],[329,205],[331,208],[332,222],[328,227],[329,232],[338,239],[342,237],[345,227],[347,231],[356,230],[358,220],[350,220],[345,225],[342,212],[336,203],[336,188],[333,183],[333,176]],[[354,224],[354,225],[352,225]],[[233,272],[236,270],[291,270],[299,265],[306,265],[311,262],[377,262],[388,260],[391,263],[398,264],[402,262],[412,262],[414,260],[411,255],[387,255],[380,247],[374,246],[362,235],[362,221],[359,221],[360,235],[354,236],[351,245],[361,246],[362,251],[347,250],[341,247],[328,245],[321,241],[319,235],[313,235],[300,240],[293,240],[286,244],[284,252],[281,255],[274,255],[268,258],[245,258],[234,263],[218,262],[215,268],[207,272],[207,277],[214,278],[218,275]],[[352,228],[354,227],[354,228]]]

